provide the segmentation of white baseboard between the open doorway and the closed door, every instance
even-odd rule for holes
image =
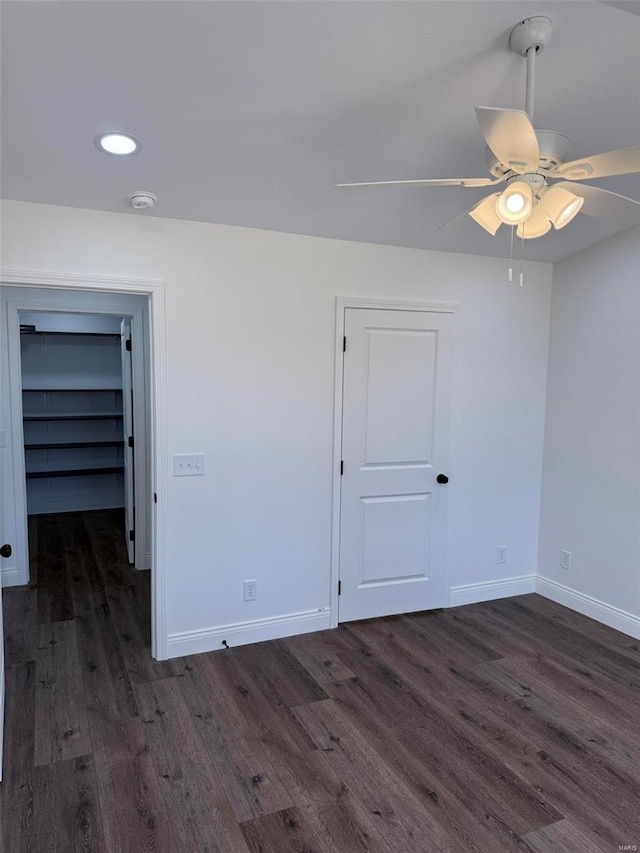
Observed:
[[[284,616],[258,619],[255,622],[237,622],[233,625],[202,628],[200,631],[169,634],[167,655],[169,658],[175,658],[216,651],[224,648],[223,640],[226,640],[231,647],[244,646],[248,643],[261,643],[263,640],[291,637],[294,634],[324,631],[330,627],[331,611],[328,608],[308,610],[303,613],[287,613]]]

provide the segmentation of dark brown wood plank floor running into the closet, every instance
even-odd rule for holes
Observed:
[[[3,853],[640,846],[640,644],[535,595],[158,663],[119,512],[4,591]]]

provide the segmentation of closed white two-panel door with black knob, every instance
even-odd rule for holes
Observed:
[[[454,322],[345,309],[341,622],[446,603]]]

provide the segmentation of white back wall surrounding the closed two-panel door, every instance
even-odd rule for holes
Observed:
[[[215,626],[329,605],[338,294],[461,302],[452,601],[524,591],[512,577],[532,588],[550,265],[527,264],[520,288],[499,259],[19,202],[3,230],[5,268],[166,282],[169,453],[206,454],[206,476],[171,478],[164,496],[168,633],[189,648]],[[243,603],[254,577],[260,598]],[[286,619],[260,632],[284,635]]]

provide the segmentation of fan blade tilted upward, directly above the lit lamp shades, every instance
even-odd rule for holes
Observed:
[[[538,138],[524,110],[476,107],[476,117],[487,145],[503,166],[519,175],[536,171],[540,165]]]

